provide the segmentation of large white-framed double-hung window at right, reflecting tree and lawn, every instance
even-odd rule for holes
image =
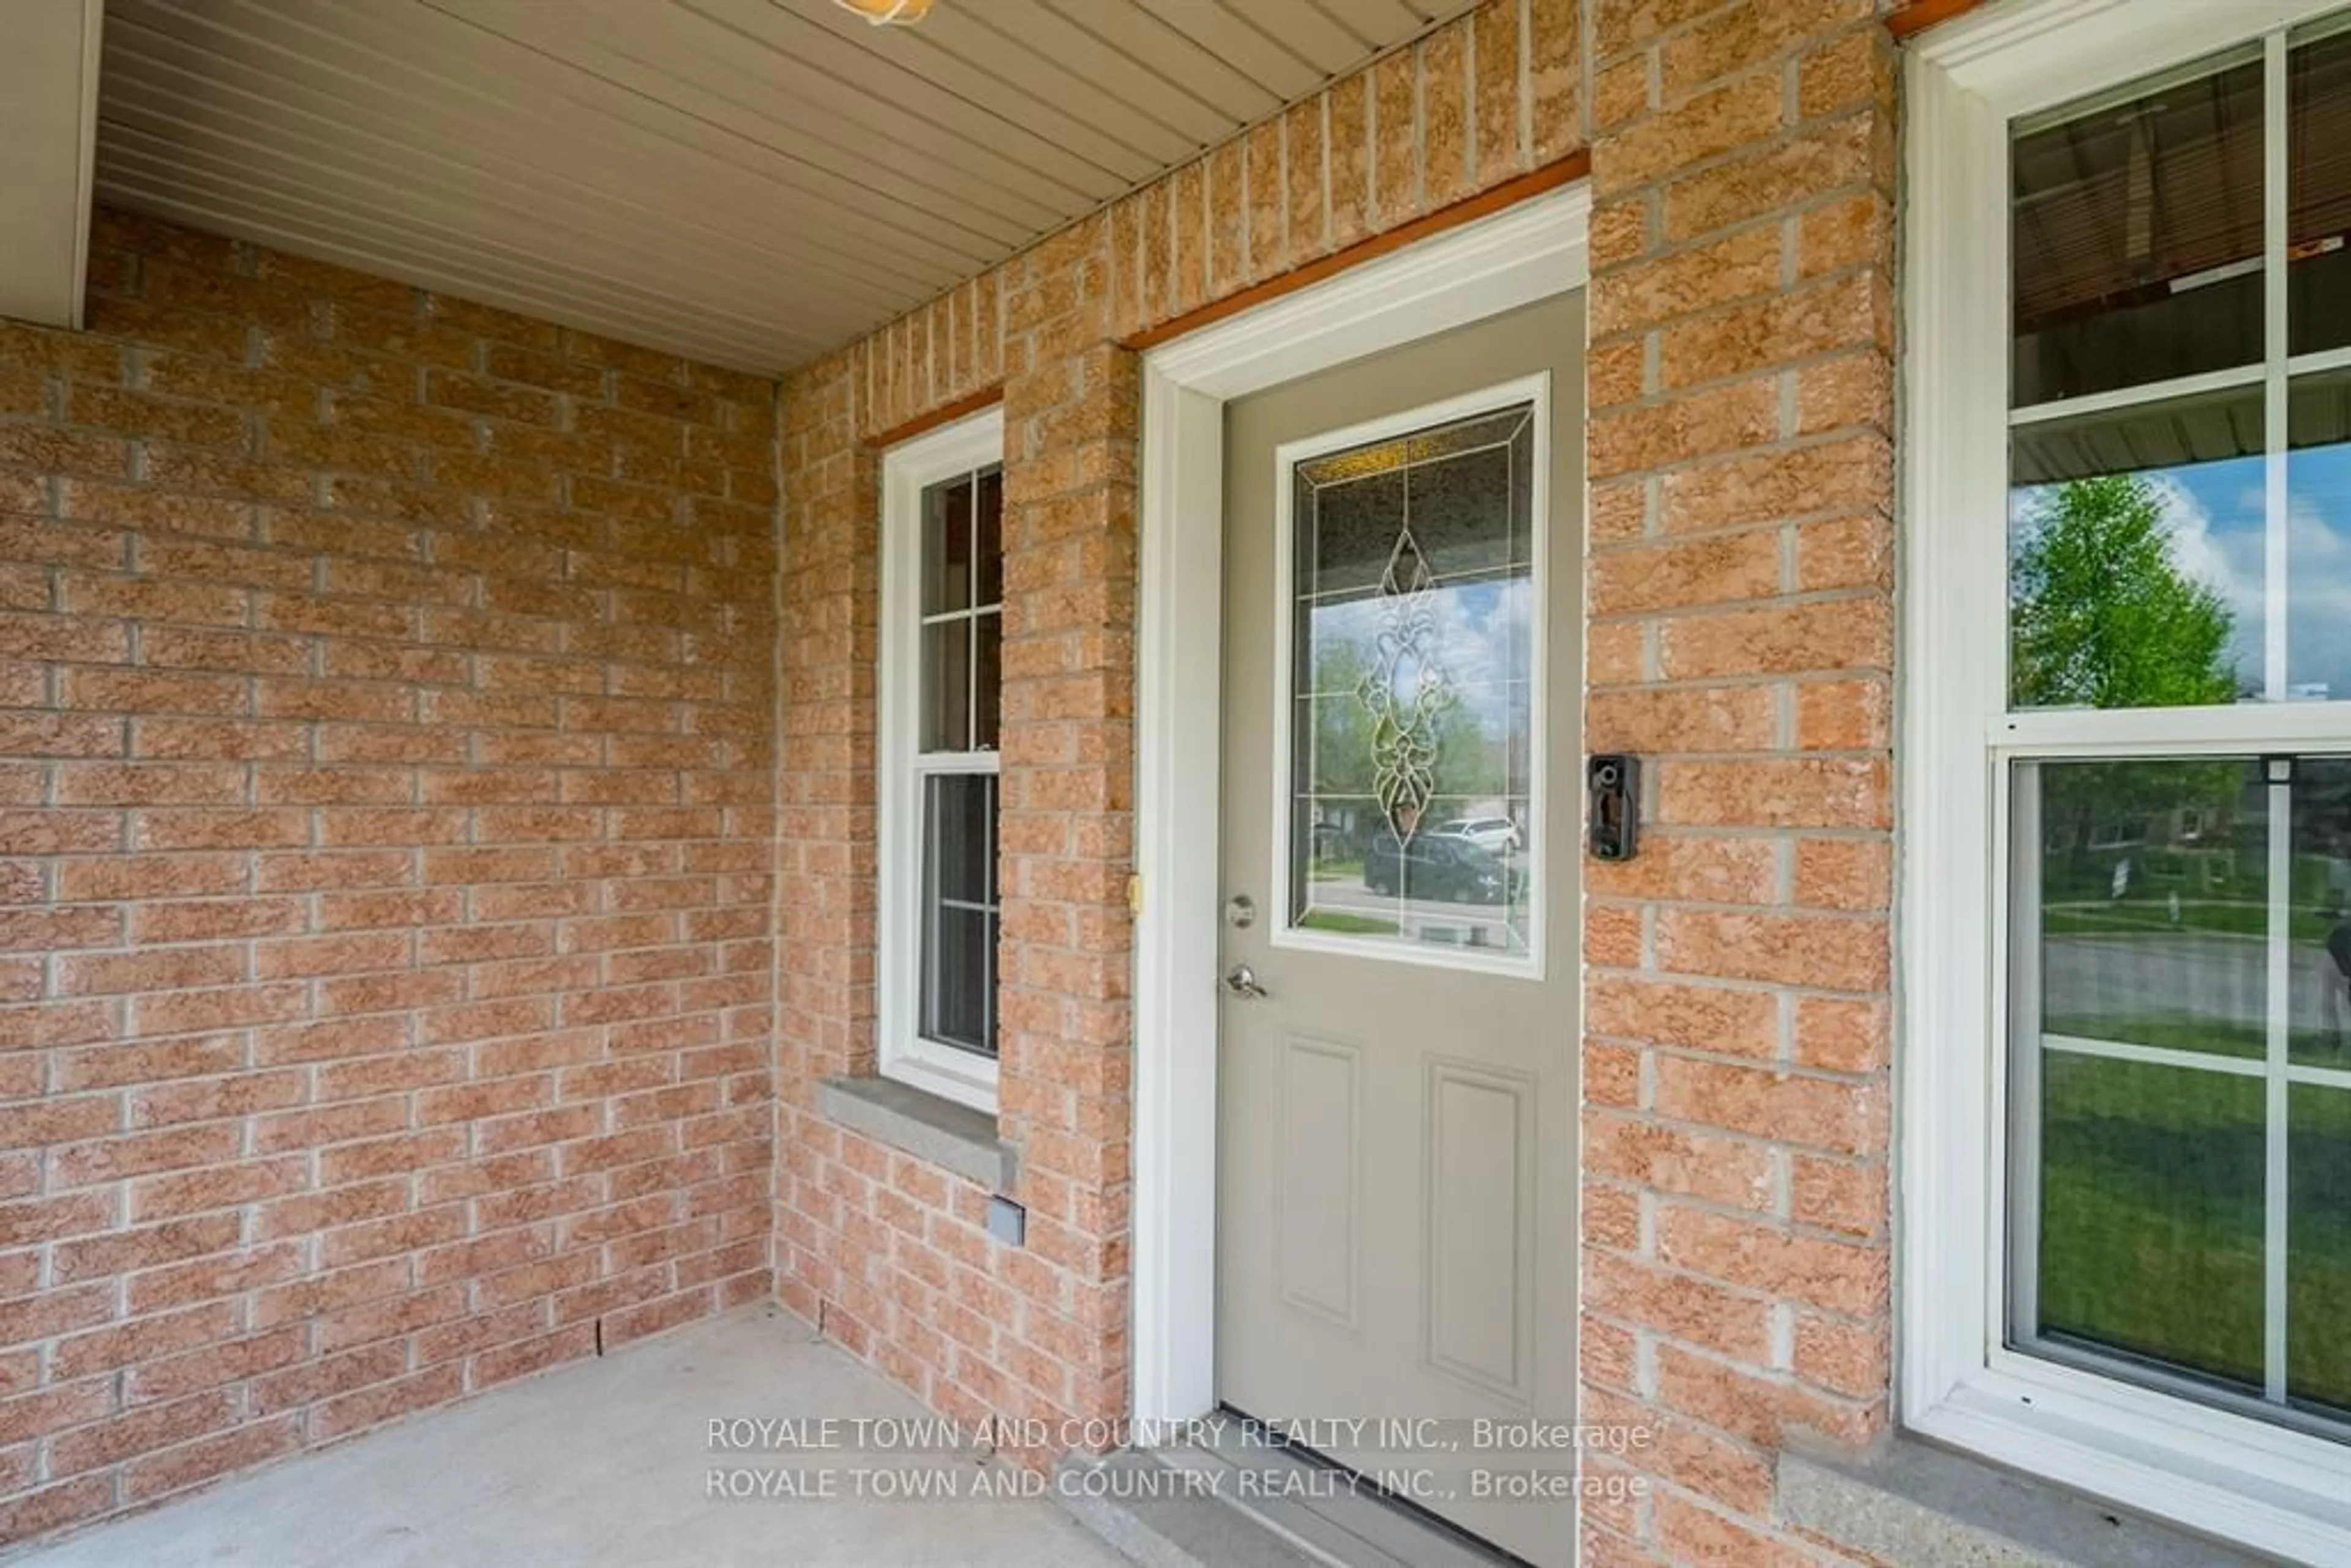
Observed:
[[[2351,14],[1921,56],[1904,1403],[2351,1547]]]

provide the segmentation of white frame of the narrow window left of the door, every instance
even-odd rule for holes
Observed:
[[[882,456],[882,675],[877,863],[882,907],[875,954],[875,1023],[882,1077],[994,1114],[997,1063],[924,1039],[922,1006],[922,773],[997,769],[994,752],[933,755],[922,724],[922,491],[1004,461],[1004,409],[983,409]],[[999,806],[1002,809],[1002,806]]]

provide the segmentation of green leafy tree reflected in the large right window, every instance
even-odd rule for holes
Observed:
[[[2179,569],[2137,475],[2038,491],[2010,564],[2022,708],[2189,708],[2238,693],[2233,614]]]

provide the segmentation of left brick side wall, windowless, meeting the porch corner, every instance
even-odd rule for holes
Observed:
[[[769,1291],[773,388],[99,214],[0,322],[0,1540]]]

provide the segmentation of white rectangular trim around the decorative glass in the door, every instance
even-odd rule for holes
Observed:
[[[1338,931],[1310,931],[1295,924],[1291,910],[1291,790],[1295,778],[1291,773],[1291,705],[1286,701],[1274,703],[1274,865],[1267,886],[1279,889],[1281,919],[1272,922],[1274,947],[1298,947],[1305,952],[1342,952],[1357,959],[1378,959],[1387,964],[1422,964],[1427,969],[1453,969],[1465,973],[1488,973],[1488,976],[1514,976],[1521,980],[1542,980],[1545,973],[1545,929],[1549,924],[1549,898],[1545,877],[1545,853],[1552,842],[1554,823],[1547,820],[1545,804],[1549,802],[1549,773],[1545,771],[1549,755],[1549,724],[1542,722],[1549,715],[1545,703],[1547,679],[1545,665],[1549,658],[1549,592],[1552,592],[1552,550],[1549,550],[1549,515],[1552,515],[1552,371],[1535,371],[1533,376],[1519,376],[1516,381],[1502,381],[1498,386],[1481,388],[1476,393],[1462,393],[1460,397],[1446,397],[1441,402],[1422,404],[1418,409],[1406,409],[1401,414],[1387,414],[1382,418],[1364,421],[1359,425],[1347,425],[1345,430],[1324,430],[1295,442],[1281,442],[1274,449],[1274,691],[1293,691],[1293,665],[1295,649],[1291,644],[1291,611],[1295,609],[1295,574],[1298,574],[1298,534],[1291,489],[1291,470],[1298,463],[1326,456],[1331,451],[1345,451],[1349,447],[1368,447],[1371,442],[1385,442],[1396,435],[1411,435],[1413,430],[1425,430],[1429,425],[1446,425],[1458,418],[1472,418],[1476,414],[1493,414],[1507,409],[1514,402],[1526,402],[1533,407],[1533,484],[1528,487],[1528,517],[1533,520],[1535,536],[1528,552],[1528,592],[1533,595],[1535,618],[1533,637],[1528,639],[1528,658],[1533,665],[1528,670],[1528,712],[1538,715],[1531,748],[1528,748],[1528,827],[1531,849],[1521,863],[1521,875],[1528,877],[1533,898],[1526,903],[1526,952],[1479,952],[1476,947],[1441,947],[1429,943],[1399,943],[1382,938],[1345,936]]]

